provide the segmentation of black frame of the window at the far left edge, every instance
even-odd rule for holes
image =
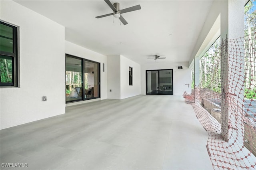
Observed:
[[[0,20],[0,24],[13,28],[13,52],[0,51],[0,55],[12,57],[12,83],[2,83],[0,87],[18,87],[18,27]]]

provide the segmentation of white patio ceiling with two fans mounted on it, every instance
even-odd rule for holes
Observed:
[[[119,2],[120,9],[140,4],[141,10],[122,14],[128,22],[124,26],[113,16],[95,18],[112,12],[104,0],[16,2],[65,26],[67,41],[140,64],[188,61],[212,4],[212,0],[110,0]],[[166,59],[154,60],[154,55]]]

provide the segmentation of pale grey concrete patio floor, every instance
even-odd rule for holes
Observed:
[[[181,96],[106,99],[66,107],[64,115],[1,130],[1,166],[210,170],[207,140],[208,133]]]

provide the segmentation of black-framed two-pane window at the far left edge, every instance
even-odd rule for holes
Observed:
[[[18,86],[17,27],[0,21],[0,87]]]

